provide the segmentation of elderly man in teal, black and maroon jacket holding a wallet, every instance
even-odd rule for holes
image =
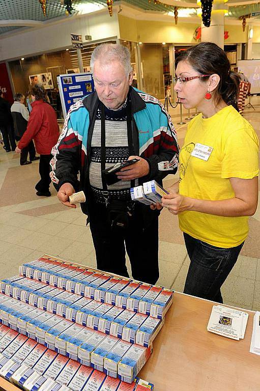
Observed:
[[[158,212],[131,201],[130,188],[175,173],[178,145],[161,103],[133,89],[129,50],[118,44],[96,47],[91,58],[96,92],[71,106],[53,148],[51,178],[57,197],[83,190],[97,267],[128,276],[125,249],[136,280],[155,284],[158,268]],[[101,174],[118,162],[138,161],[107,184]],[[80,180],[77,174],[80,172]]]

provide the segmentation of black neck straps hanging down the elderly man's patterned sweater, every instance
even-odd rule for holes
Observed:
[[[131,115],[131,105],[129,102],[129,97],[127,98],[127,140],[128,140],[128,149],[129,156],[134,155],[134,147],[133,147],[133,133],[132,133],[132,115]],[[107,190],[107,184],[102,172],[106,167],[106,129],[105,129],[105,106],[102,102],[100,102],[100,111],[101,111],[101,179],[102,179],[102,187],[103,187],[103,197],[105,199],[106,207],[109,204],[109,192]],[[131,187],[134,187],[135,180],[131,180]]]

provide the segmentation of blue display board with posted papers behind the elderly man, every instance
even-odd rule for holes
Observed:
[[[92,73],[70,73],[57,76],[64,118],[70,106],[94,92]]]

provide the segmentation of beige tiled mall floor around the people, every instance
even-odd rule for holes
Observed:
[[[259,136],[260,98],[252,102],[256,110],[245,110]],[[191,110],[191,114],[194,110]],[[172,121],[180,122],[179,107],[170,108]],[[184,109],[184,118],[187,111]],[[188,122],[186,120],[186,122]],[[176,125],[182,146],[187,123]],[[61,205],[51,185],[51,197],[39,198],[34,185],[38,181],[39,162],[20,166],[19,156],[6,153],[0,146],[0,277],[17,273],[18,266],[41,254],[95,267],[95,253],[89,227],[80,209]],[[166,177],[167,187],[178,179]],[[226,304],[260,310],[260,207],[250,218],[250,233],[242,253],[223,285]],[[160,217],[160,278],[158,285],[182,292],[189,267],[189,258],[178,218],[163,210]],[[127,262],[128,263],[128,262]],[[128,263],[129,265],[129,263]],[[130,272],[130,268],[129,268]]]

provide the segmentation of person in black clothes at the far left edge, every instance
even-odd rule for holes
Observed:
[[[3,91],[0,91],[0,130],[3,135],[4,148],[6,152],[10,152],[11,149],[15,151],[16,148],[14,126],[11,115],[11,103],[3,95]]]

